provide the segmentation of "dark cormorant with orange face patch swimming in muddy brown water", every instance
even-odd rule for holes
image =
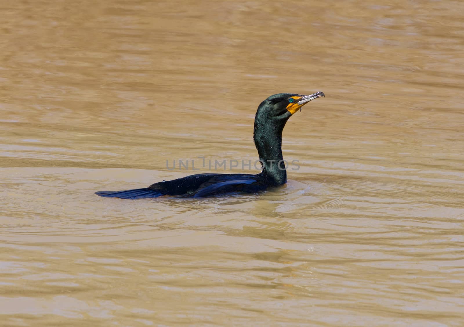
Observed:
[[[287,171],[282,157],[282,131],[285,123],[298,109],[324,93],[310,95],[279,93],[271,95],[256,111],[253,140],[263,170],[252,174],[196,174],[170,181],[158,182],[143,189],[100,191],[95,194],[122,199],[158,196],[205,197],[230,192],[255,193],[269,186],[287,182]]]

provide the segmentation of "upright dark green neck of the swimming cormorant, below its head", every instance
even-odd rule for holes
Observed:
[[[284,157],[282,156],[282,122],[262,124],[255,120],[253,139],[258,150],[259,160],[263,164],[262,174],[274,185],[287,182]]]

